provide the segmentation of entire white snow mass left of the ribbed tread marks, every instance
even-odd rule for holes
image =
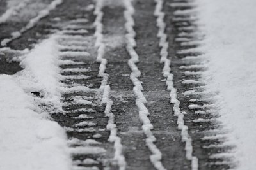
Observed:
[[[21,54],[22,71],[0,74],[0,169],[70,169],[65,130],[38,108],[62,108],[56,37]]]

